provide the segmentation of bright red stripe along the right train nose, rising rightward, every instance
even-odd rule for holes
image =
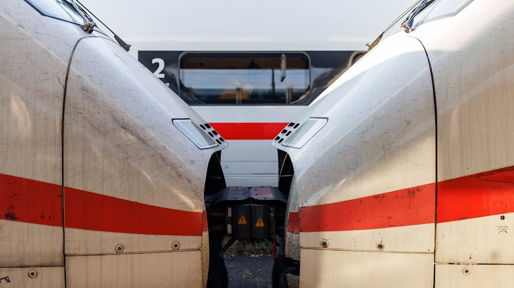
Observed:
[[[511,213],[514,212],[514,167],[442,181],[437,184],[437,190],[437,223]],[[429,184],[344,202],[300,207],[300,231],[347,231],[434,223],[434,200],[435,184]]]

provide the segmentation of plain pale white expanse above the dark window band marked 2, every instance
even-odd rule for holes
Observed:
[[[348,43],[363,46],[373,41],[414,0],[81,2],[136,49],[198,50],[195,47],[201,44],[215,46],[230,42],[241,44],[232,46],[235,50],[251,47],[308,50],[334,49]],[[242,43],[253,43],[253,46]],[[270,43],[281,44],[270,47]],[[180,47],[169,48],[171,45]]]

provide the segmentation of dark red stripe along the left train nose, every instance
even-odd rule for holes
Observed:
[[[168,209],[65,188],[65,227],[201,236],[203,213]],[[62,226],[61,186],[0,174],[0,219]],[[4,212],[5,211],[5,212]]]

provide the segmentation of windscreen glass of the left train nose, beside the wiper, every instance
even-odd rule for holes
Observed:
[[[27,0],[32,6],[38,9],[42,14],[50,17],[56,17],[64,21],[82,24],[83,20],[80,14],[71,4],[64,0]]]

